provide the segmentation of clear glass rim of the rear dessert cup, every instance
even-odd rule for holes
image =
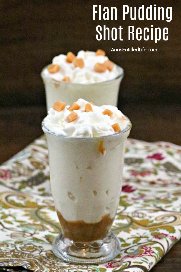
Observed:
[[[52,63],[51,63],[51,64],[52,64]],[[117,69],[119,70],[119,75],[116,76],[116,77],[113,78],[113,79],[109,79],[109,80],[105,80],[105,81],[101,81],[101,82],[95,82],[95,83],[72,83],[72,82],[66,82],[66,81],[56,80],[56,79],[53,79],[53,78],[51,78],[51,77],[44,77],[44,76],[43,76],[43,71],[44,71],[49,65],[50,65],[50,64],[46,65],[46,66],[42,69],[40,75],[41,75],[41,77],[42,77],[43,80],[49,80],[49,81],[52,81],[53,83],[56,83],[56,84],[60,84],[60,83],[61,83],[61,84],[65,84],[65,85],[71,84],[71,85],[75,85],[75,86],[90,86],[90,85],[94,85],[94,84],[108,84],[108,83],[113,82],[113,81],[116,81],[117,79],[119,79],[119,78],[121,78],[121,77],[124,76],[124,70],[123,70],[123,68],[115,63]]]

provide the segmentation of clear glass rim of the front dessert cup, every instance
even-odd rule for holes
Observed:
[[[46,117],[45,117],[46,118]],[[122,135],[124,135],[126,132],[130,131],[131,128],[132,128],[132,123],[131,121],[129,120],[129,118],[127,118],[127,120],[129,121],[129,124],[121,131],[117,132],[117,133],[114,133],[114,134],[110,134],[110,135],[106,135],[106,136],[99,136],[99,137],[72,137],[72,136],[66,136],[66,135],[61,135],[61,134],[56,134],[56,132],[53,132],[51,130],[49,130],[48,128],[46,128],[46,126],[44,125],[45,123],[45,118],[43,119],[42,121],[42,129],[43,129],[43,132],[46,134],[49,134],[49,135],[52,135],[53,137],[56,137],[56,138],[60,138],[64,141],[84,141],[84,142],[89,142],[89,141],[106,141],[106,140],[110,140],[110,139],[113,139],[113,138],[117,138],[117,137],[121,137]]]

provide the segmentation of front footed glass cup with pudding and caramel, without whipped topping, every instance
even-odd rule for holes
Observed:
[[[110,232],[122,188],[125,143],[131,123],[121,132],[97,138],[46,134],[50,183],[62,233],[54,254],[75,264],[99,264],[120,252]]]

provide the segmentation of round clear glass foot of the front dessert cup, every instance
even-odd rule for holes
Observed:
[[[119,238],[110,232],[103,240],[73,242],[58,235],[52,244],[54,254],[72,264],[102,264],[115,258],[121,249]]]

